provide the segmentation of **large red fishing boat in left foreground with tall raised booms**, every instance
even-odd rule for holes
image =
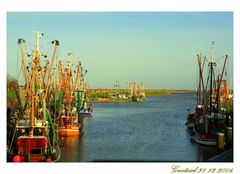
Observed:
[[[47,56],[40,50],[40,37],[36,32],[36,48],[27,53],[30,63],[25,61],[24,39],[18,39],[21,50],[22,67],[25,77],[24,101],[18,98],[18,108],[14,113],[16,121],[12,133],[8,134],[7,159],[9,162],[50,162],[58,161],[61,151],[58,145],[58,134],[55,122],[46,105],[52,67],[56,57],[59,41],[54,40],[54,52],[51,66],[47,69],[48,78],[43,78],[44,68],[41,58]],[[18,89],[17,89],[18,90]],[[10,130],[8,130],[10,131]]]

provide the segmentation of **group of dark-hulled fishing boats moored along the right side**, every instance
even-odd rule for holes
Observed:
[[[197,143],[207,146],[217,145],[218,138],[226,134],[226,129],[231,126],[232,120],[232,115],[226,108],[232,107],[233,98],[227,80],[224,79],[224,74],[227,74],[228,56],[224,56],[221,73],[217,74],[213,46],[214,42],[211,45],[212,52],[208,63],[206,84],[203,77],[205,58],[203,59],[201,55],[197,56],[199,67],[197,107],[195,112],[188,114],[186,122],[193,139]]]

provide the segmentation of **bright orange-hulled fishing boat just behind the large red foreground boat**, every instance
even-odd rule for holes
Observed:
[[[68,53],[68,60],[65,62],[66,65],[59,61],[59,135],[60,136],[76,136],[80,135],[82,124],[80,123],[77,103],[75,95],[75,84],[73,84],[73,70],[71,53]],[[80,65],[79,65],[80,66]],[[79,69],[79,68],[78,68]],[[78,73],[76,75],[76,80]],[[80,95],[80,92],[77,92]],[[79,97],[80,99],[80,97]],[[80,101],[77,101],[80,103]]]

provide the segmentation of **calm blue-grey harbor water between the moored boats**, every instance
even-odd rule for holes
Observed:
[[[185,127],[194,94],[148,97],[144,102],[94,103],[81,137],[64,138],[60,162],[207,161],[216,148],[190,141]]]

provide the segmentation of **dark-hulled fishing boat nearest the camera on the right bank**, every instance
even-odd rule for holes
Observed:
[[[203,112],[195,118],[194,140],[202,145],[216,146],[218,133],[224,133],[226,128],[226,109],[220,103],[220,85],[223,80],[225,66],[228,56],[224,57],[224,64],[221,74],[215,76],[216,60],[213,55],[214,42],[211,45],[211,59],[208,63],[208,76],[204,88],[202,73],[201,81],[203,88]],[[219,83],[215,83],[216,79]]]

